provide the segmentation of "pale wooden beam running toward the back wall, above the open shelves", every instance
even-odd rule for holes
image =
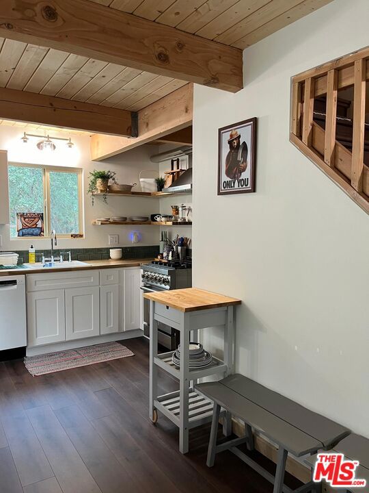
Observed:
[[[137,138],[92,136],[91,159],[101,161],[142,144],[161,140],[169,134],[189,127],[192,124],[192,117],[193,84],[186,84],[143,110],[139,110]]]

